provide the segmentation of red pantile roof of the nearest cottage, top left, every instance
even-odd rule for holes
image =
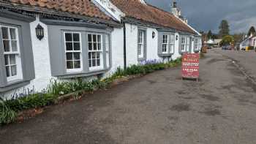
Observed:
[[[10,2],[11,4],[24,4],[31,7],[43,7],[50,10],[69,12],[75,15],[85,15],[110,20],[110,17],[100,11],[91,0],[5,0],[5,2]]]

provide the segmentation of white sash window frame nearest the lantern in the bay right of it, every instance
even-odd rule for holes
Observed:
[[[66,41],[66,34],[72,34],[72,41]],[[72,42],[72,48],[74,48],[74,39],[73,34],[79,34],[79,43],[80,43],[80,50],[67,50],[66,42]],[[67,72],[82,72],[83,71],[83,58],[82,58],[82,39],[81,39],[81,33],[80,32],[74,32],[74,31],[64,31],[64,48],[65,48],[65,66]],[[80,68],[78,69],[67,69],[67,53],[80,53]],[[73,58],[72,61],[74,62],[75,59]],[[73,63],[74,67],[74,63]]]

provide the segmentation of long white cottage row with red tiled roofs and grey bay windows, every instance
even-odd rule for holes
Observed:
[[[174,60],[201,43],[183,20],[143,0],[0,0],[0,95]]]

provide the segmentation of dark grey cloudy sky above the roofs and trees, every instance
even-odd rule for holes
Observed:
[[[170,12],[173,0],[146,0],[149,4]],[[221,20],[230,24],[230,33],[247,32],[256,27],[256,0],[176,0],[181,15],[197,31],[219,32]]]

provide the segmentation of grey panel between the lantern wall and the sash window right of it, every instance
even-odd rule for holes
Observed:
[[[49,26],[50,68],[53,76],[65,75],[64,31]]]

